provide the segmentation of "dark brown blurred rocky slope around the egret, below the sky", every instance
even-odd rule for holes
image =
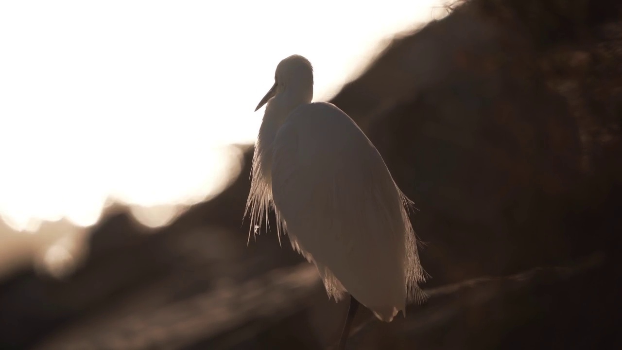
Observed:
[[[620,348],[618,1],[468,1],[397,39],[332,102],[419,208],[426,286],[460,283],[406,319],[371,323],[353,348]],[[101,222],[70,280],[4,281],[0,348],[334,340],[346,305],[326,300],[307,265],[293,267],[302,258],[272,234],[246,248],[251,154],[230,189],[157,233],[124,214]],[[537,269],[550,265],[567,267]],[[512,277],[473,280],[485,275]]]

